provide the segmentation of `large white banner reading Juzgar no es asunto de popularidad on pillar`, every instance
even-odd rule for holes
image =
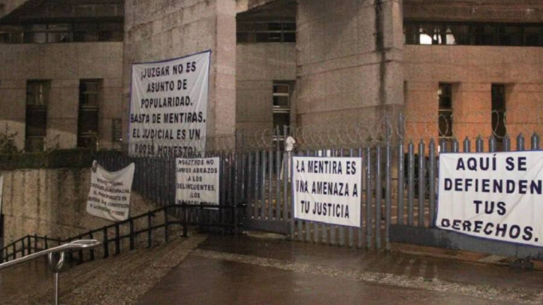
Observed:
[[[205,150],[211,51],[132,65],[129,153]]]

